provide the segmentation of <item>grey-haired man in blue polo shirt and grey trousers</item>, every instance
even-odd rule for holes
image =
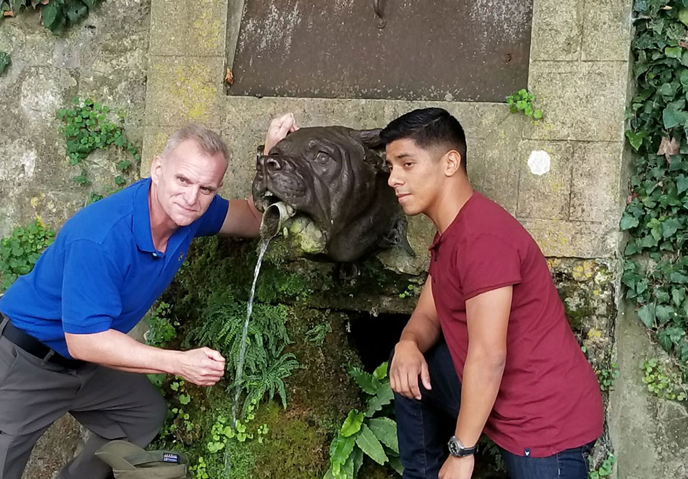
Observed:
[[[295,129],[291,114],[273,120],[266,148]],[[77,212],[0,298],[0,479],[19,479],[36,440],[67,412],[92,434],[58,478],[106,478],[109,467],[94,452],[116,438],[145,447],[166,416],[147,377],[132,373],[200,386],[222,377],[215,350],[153,348],[127,333],[195,236],[258,236],[252,201],[216,194],[227,157],[217,134],[184,127],[155,157],[150,178]]]

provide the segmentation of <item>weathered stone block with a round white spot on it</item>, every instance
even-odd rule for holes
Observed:
[[[525,140],[517,148],[519,175],[518,218],[567,219],[571,180],[571,144]],[[528,158],[533,151],[550,155],[550,170],[537,175],[530,170]]]

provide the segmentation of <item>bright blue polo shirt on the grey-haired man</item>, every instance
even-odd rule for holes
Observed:
[[[151,179],[78,211],[45,249],[34,269],[0,298],[17,328],[69,356],[65,332],[128,333],[169,286],[195,236],[219,232],[229,203],[217,195],[208,210],[176,230],[166,251],[153,246]]]

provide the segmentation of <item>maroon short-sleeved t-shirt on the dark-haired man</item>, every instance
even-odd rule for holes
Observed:
[[[506,366],[484,432],[519,456],[546,457],[602,433],[599,383],[563,311],[535,240],[504,208],[473,192],[430,247],[442,333],[462,379],[466,300],[513,285]]]

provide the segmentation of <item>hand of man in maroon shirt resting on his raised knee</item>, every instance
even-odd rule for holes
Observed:
[[[389,386],[394,392],[409,399],[420,399],[418,376],[425,389],[430,387],[430,373],[423,353],[416,342],[402,339],[394,346],[394,357],[389,368]]]

